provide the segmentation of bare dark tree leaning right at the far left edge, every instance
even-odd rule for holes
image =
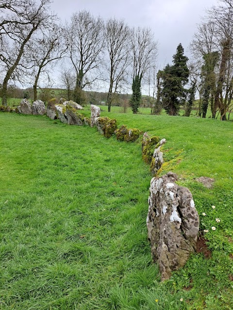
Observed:
[[[7,105],[7,84],[20,79],[19,72],[25,71],[26,62],[22,55],[33,34],[45,29],[56,20],[48,10],[50,0],[0,1],[0,62],[5,76],[2,83],[2,104]],[[17,69],[17,70],[16,70]]]

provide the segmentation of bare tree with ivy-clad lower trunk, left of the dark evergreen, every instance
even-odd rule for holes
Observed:
[[[133,64],[133,95],[131,107],[137,113],[141,100],[142,79],[155,63],[158,55],[158,43],[154,40],[150,28],[133,28],[131,34],[131,57]]]

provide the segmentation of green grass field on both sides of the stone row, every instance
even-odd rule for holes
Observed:
[[[190,189],[208,249],[201,239],[200,253],[160,281],[140,140],[0,112],[0,309],[233,309],[233,123],[101,116],[166,138],[160,173],[177,173]],[[201,176],[213,187],[195,181]]]

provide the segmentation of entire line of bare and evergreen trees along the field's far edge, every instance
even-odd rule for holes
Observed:
[[[233,0],[219,0],[207,11],[190,44],[192,60],[179,44],[172,64],[162,70],[157,68],[158,43],[150,28],[130,28],[124,20],[104,20],[85,10],[62,25],[50,4],[51,0],[0,0],[3,105],[12,82],[31,84],[36,100],[42,82],[52,83],[60,67],[67,99],[77,103],[85,102],[93,85],[102,84],[108,88],[109,112],[119,94],[131,89],[130,99],[120,100],[128,100],[137,113],[142,87],[147,87],[152,114],[165,109],[178,115],[182,106],[184,116],[189,116],[198,94],[199,116],[205,118],[210,106],[213,118],[220,113],[221,120],[227,119],[233,109]],[[88,96],[94,102],[93,93]]]

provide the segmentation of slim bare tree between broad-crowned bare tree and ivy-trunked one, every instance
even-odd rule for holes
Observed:
[[[109,57],[108,111],[111,111],[113,95],[126,83],[126,69],[129,66],[130,29],[123,20],[110,18],[105,26],[105,40]]]

